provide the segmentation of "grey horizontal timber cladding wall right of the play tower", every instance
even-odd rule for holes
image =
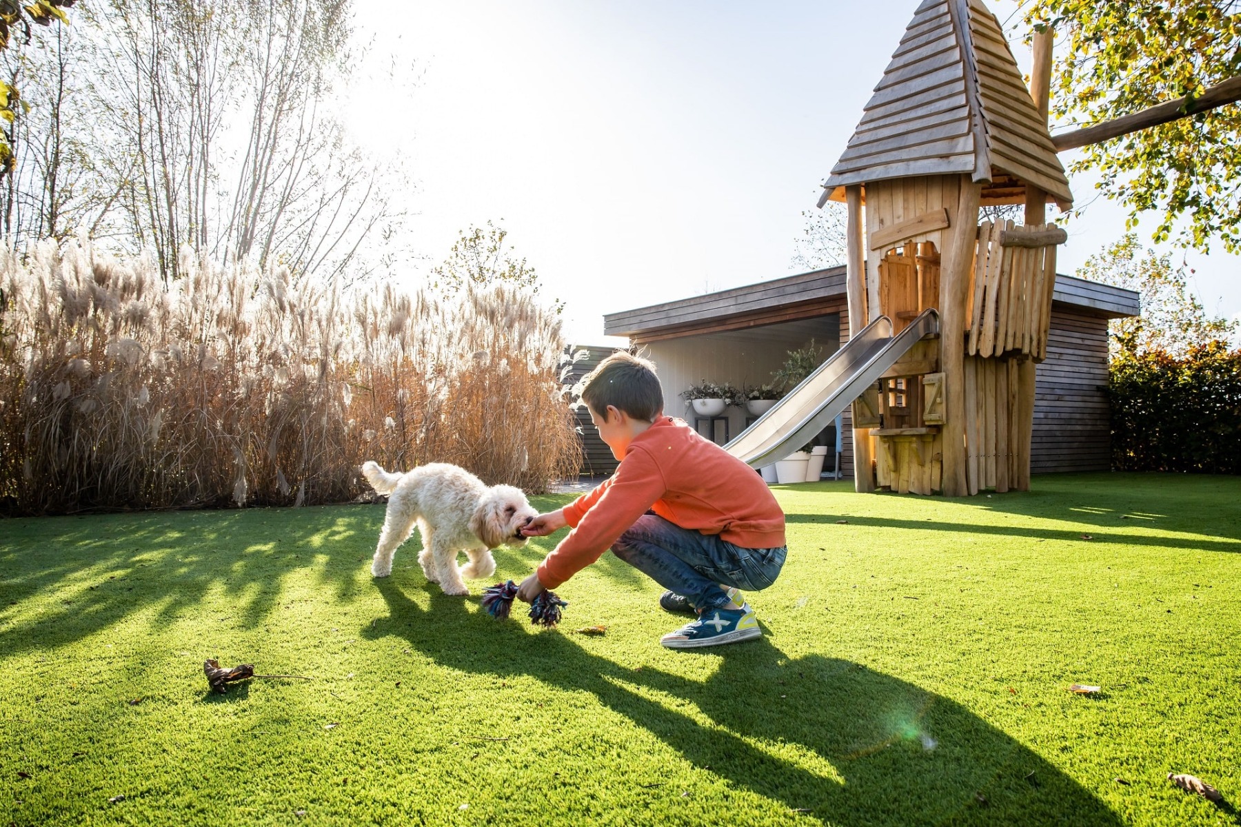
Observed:
[[[1047,358],[1037,367],[1031,474],[1107,471],[1107,319],[1052,305]]]

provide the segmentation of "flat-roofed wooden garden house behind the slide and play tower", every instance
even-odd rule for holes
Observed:
[[[812,338],[823,347],[824,358],[835,352],[849,338],[845,293],[845,268],[834,267],[608,314],[603,332],[627,336],[652,360],[666,413],[695,424],[689,403],[680,397],[691,384],[702,379],[737,387],[768,383],[788,351],[808,346]],[[1138,294],[1132,290],[1055,276],[1046,358],[1036,368],[1034,472],[1108,469],[1107,322],[1137,314]],[[589,350],[591,363],[597,363],[603,348]],[[895,369],[907,369],[907,363]],[[849,410],[843,414],[846,435],[850,417]],[[741,433],[747,419],[743,408],[731,407],[721,418],[696,424],[700,433],[722,444]],[[583,434],[591,431],[587,420]],[[851,476],[851,444],[848,438],[841,443],[841,469]],[[599,464],[597,450],[592,456],[598,470],[611,470],[607,458]],[[827,469],[831,466],[828,461]]]

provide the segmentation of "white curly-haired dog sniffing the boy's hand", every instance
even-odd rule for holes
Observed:
[[[446,462],[388,474],[377,462],[367,461],[362,475],[375,491],[388,495],[371,574],[386,578],[392,573],[392,555],[417,524],[422,573],[444,594],[469,594],[462,578],[491,577],[495,558],[490,549],[501,543],[525,543],[521,528],[539,516],[520,489],[488,487],[465,469]],[[465,552],[469,563],[458,568],[457,552]]]

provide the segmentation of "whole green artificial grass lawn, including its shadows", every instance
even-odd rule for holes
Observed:
[[[1237,823],[1241,480],[1034,487],[778,487],[766,636],[696,652],[611,554],[557,630],[416,539],[372,580],[382,506],[4,521],[0,823]],[[217,655],[314,681],[212,694]]]

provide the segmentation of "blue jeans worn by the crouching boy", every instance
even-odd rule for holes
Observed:
[[[755,591],[774,583],[787,547],[743,548],[719,534],[645,515],[620,534],[612,553],[665,589],[685,595],[702,611],[731,603],[721,583]]]

